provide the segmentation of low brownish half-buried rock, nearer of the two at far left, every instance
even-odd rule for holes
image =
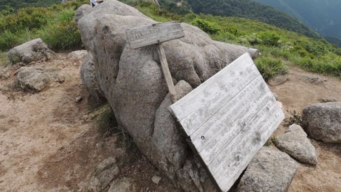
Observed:
[[[40,92],[53,82],[63,83],[68,74],[51,66],[29,66],[17,70],[15,85],[25,91]]]

